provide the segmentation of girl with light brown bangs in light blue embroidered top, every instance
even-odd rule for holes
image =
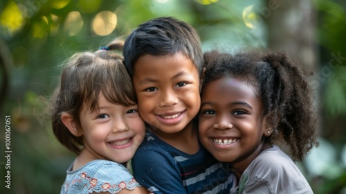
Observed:
[[[122,58],[107,49],[73,55],[53,98],[53,132],[78,155],[61,193],[148,193],[120,164],[143,141],[145,123]]]

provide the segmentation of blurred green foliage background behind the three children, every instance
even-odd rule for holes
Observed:
[[[75,155],[53,136],[45,109],[57,84],[60,65],[73,53],[95,51],[115,37],[126,37],[143,21],[161,16],[173,16],[194,26],[204,51],[269,47],[267,25],[270,24],[266,24],[260,11],[273,1],[1,1],[0,193],[60,192],[66,168]],[[320,112],[321,145],[300,168],[315,193],[346,193],[346,3],[341,0],[305,2],[311,3],[317,15],[313,44],[318,48],[315,53],[318,63],[313,79],[319,89],[316,107]],[[246,8],[252,10],[244,17]],[[109,35],[95,35],[91,30],[95,15],[102,10],[117,15],[116,28]],[[75,35],[69,35],[66,30],[66,18],[72,11],[80,12],[84,21]],[[4,182],[5,116],[11,116],[10,189]]]

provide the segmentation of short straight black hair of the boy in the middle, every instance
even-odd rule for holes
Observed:
[[[158,17],[140,24],[127,37],[123,55],[127,72],[134,76],[134,64],[143,55],[174,55],[181,52],[203,69],[201,42],[196,30],[173,17]]]

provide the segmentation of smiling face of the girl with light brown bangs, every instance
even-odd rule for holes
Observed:
[[[145,123],[138,114],[137,105],[125,107],[109,103],[102,94],[93,112],[84,104],[80,124],[83,152],[93,159],[129,161],[145,136]]]

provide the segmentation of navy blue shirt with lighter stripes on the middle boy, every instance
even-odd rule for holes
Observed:
[[[199,145],[189,155],[147,131],[131,160],[137,182],[152,193],[229,193],[235,175]]]

